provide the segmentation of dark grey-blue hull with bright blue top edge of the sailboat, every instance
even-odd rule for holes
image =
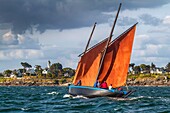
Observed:
[[[69,94],[76,96],[82,95],[85,97],[93,98],[93,97],[122,97],[126,98],[134,91],[118,91],[116,89],[108,90],[102,88],[95,87],[87,87],[87,86],[69,86]]]

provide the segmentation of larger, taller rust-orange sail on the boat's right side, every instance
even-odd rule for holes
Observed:
[[[135,29],[136,24],[111,42],[98,76],[99,81],[106,81],[114,88],[125,85]]]

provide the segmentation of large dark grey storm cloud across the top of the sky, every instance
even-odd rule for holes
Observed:
[[[159,7],[168,2],[169,0],[123,1],[122,10]],[[102,12],[113,12],[118,5],[117,0],[0,0],[0,29],[7,27],[4,23],[19,34],[26,30],[32,32],[33,28],[44,32],[46,29],[89,26],[96,21],[107,22],[108,17]]]

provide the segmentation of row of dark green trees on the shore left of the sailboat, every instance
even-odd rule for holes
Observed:
[[[44,69],[41,67],[41,65],[35,65],[34,66],[34,76],[41,76],[41,77],[45,77],[45,78],[61,78],[63,77],[65,74],[67,74],[68,77],[72,77],[75,74],[75,70],[70,68],[70,67],[66,67],[63,68],[61,63],[53,63],[51,65],[51,62],[48,61],[49,63],[49,67],[45,67]],[[27,62],[21,62],[21,65],[23,68],[21,69],[15,69],[15,70],[5,70],[3,73],[0,74],[0,76],[2,77],[9,77],[11,74],[14,74],[16,76],[19,75],[19,73],[22,74],[22,76],[29,76],[31,75],[28,70],[29,69],[33,69],[32,66],[27,63]],[[46,71],[46,74],[43,74],[43,71]]]

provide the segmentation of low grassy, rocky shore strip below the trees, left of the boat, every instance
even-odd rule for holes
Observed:
[[[24,76],[18,78],[0,78],[0,86],[67,86],[72,78],[38,78]]]

